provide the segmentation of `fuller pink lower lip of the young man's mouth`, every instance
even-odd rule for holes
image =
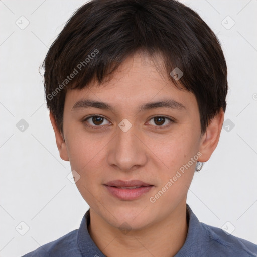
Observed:
[[[151,190],[153,186],[142,186],[135,189],[122,189],[107,185],[105,185],[105,187],[113,196],[121,200],[134,200],[139,198],[140,196],[145,195],[147,192]]]

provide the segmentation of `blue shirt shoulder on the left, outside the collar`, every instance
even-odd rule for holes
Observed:
[[[77,231],[73,230],[68,234],[46,243],[36,250],[25,254],[23,257],[63,257],[63,256],[80,256],[77,244]]]

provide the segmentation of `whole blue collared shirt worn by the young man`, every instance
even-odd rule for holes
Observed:
[[[23,257],[106,257],[88,233],[90,209],[79,229],[49,242]],[[221,228],[199,222],[187,204],[188,233],[186,241],[174,257],[249,257],[257,256],[257,245],[226,234]],[[110,256],[111,257],[111,256]]]

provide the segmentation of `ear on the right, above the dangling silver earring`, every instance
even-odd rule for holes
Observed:
[[[220,112],[210,121],[206,132],[201,138],[199,151],[202,155],[198,158],[199,162],[207,162],[210,159],[219,142],[223,121],[224,111],[221,109]]]

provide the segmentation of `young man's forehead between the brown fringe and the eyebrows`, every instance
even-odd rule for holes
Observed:
[[[139,111],[140,105],[143,107],[147,102],[158,102],[165,98],[185,109],[197,106],[195,96],[178,89],[165,74],[160,56],[156,55],[153,62],[147,54],[136,53],[111,74],[108,82],[101,85],[92,83],[82,90],[68,90],[65,105],[71,110],[79,101],[89,99],[108,103],[120,110],[132,108]]]

